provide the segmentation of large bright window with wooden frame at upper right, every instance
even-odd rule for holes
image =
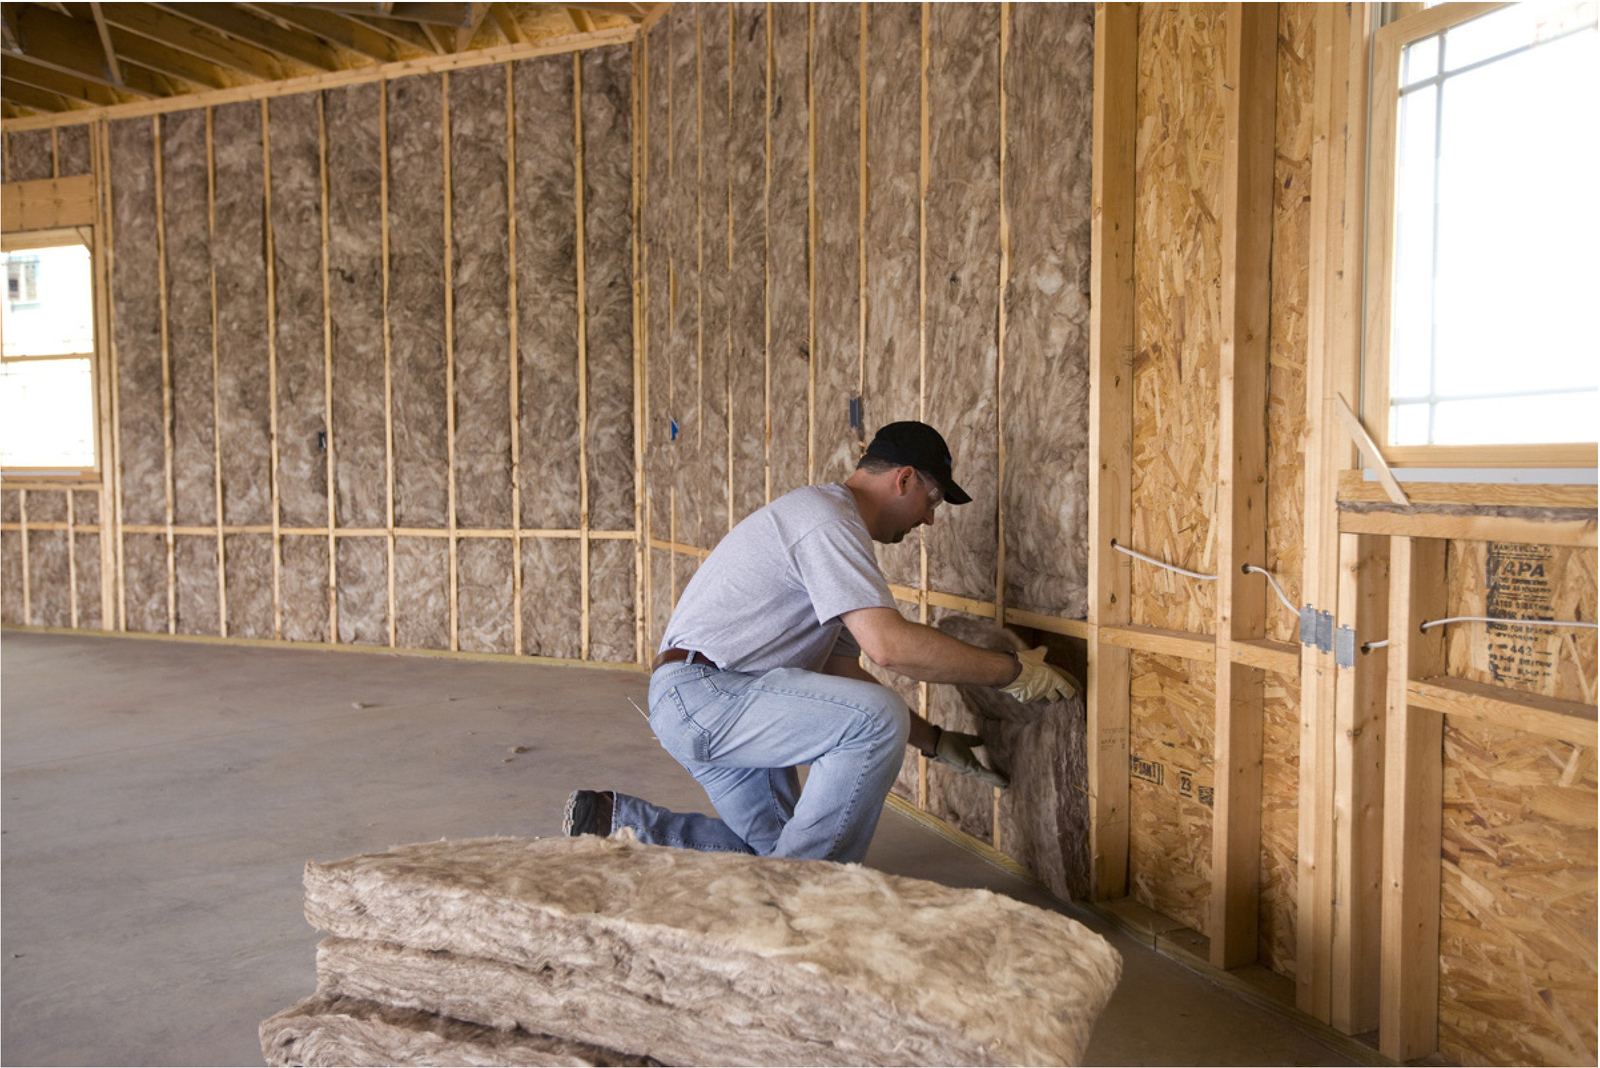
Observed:
[[[1386,456],[1594,465],[1597,5],[1442,5],[1378,32],[1366,412]]]

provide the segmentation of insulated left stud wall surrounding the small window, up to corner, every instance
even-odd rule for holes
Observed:
[[[637,664],[632,80],[6,133],[101,184],[112,403],[94,492],[6,483],[5,620]]]

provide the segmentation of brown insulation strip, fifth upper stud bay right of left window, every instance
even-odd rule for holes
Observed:
[[[384,428],[382,168],[378,85],[330,90],[328,126],[328,320],[333,325],[333,449],[339,526],[389,521]],[[370,555],[368,547],[352,556]],[[344,619],[344,547],[339,548],[339,632],[387,633]],[[365,571],[365,569],[363,569]],[[363,576],[365,577],[365,576]],[[358,596],[354,595],[352,596]],[[366,603],[365,598],[360,598]],[[350,633],[355,633],[352,630]],[[371,636],[363,640],[373,640]]]

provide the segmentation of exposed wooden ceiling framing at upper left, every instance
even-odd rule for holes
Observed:
[[[70,112],[635,26],[658,3],[6,3],[0,115]]]

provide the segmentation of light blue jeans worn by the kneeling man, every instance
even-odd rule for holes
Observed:
[[[722,819],[616,793],[613,830],[654,846],[853,862],[899,774],[910,716],[877,683],[677,662],[650,676],[650,727]]]

